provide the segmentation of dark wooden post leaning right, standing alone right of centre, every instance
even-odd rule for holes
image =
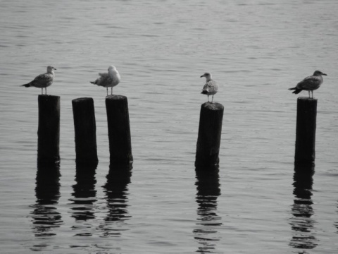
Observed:
[[[214,168],[220,159],[220,136],[222,133],[224,107],[219,103],[201,105],[199,137],[197,138],[196,168]]]

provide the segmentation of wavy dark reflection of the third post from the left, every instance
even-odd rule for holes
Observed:
[[[114,165],[109,169],[106,176],[107,182],[104,186],[108,214],[105,218],[105,224],[100,226],[104,231],[104,237],[120,236],[121,231],[128,228],[125,221],[130,219],[131,216],[127,210],[127,186],[130,183],[131,176],[132,164]]]

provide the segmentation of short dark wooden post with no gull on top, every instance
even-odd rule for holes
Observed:
[[[72,100],[75,152],[77,164],[97,164],[96,122],[94,100],[77,98]]]

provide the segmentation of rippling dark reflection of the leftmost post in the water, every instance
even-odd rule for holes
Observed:
[[[37,178],[35,195],[37,201],[31,207],[32,230],[35,236],[54,236],[53,229],[63,224],[61,214],[57,212],[56,205],[60,198],[60,166],[52,164],[49,166],[37,165]],[[33,247],[39,250],[39,246]]]

